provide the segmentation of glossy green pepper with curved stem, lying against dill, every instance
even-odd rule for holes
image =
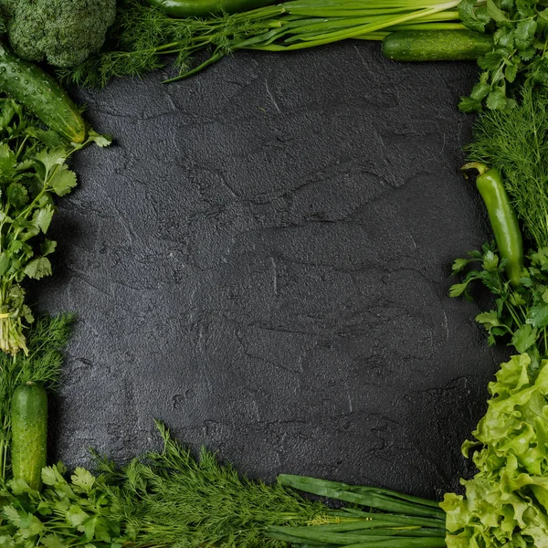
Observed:
[[[478,170],[476,186],[487,207],[501,258],[506,259],[506,274],[513,286],[520,284],[523,267],[523,238],[501,172],[483,163],[467,163],[463,168]]]

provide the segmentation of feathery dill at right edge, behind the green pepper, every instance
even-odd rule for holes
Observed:
[[[548,92],[522,88],[518,105],[481,112],[467,147],[469,160],[492,165],[504,174],[527,237],[537,249],[548,246]]]

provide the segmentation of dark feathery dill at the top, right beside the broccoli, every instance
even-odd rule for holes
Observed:
[[[76,68],[59,70],[58,77],[80,87],[102,88],[113,78],[134,78],[163,68],[163,56],[172,56],[177,75],[187,75],[198,51],[209,50],[206,64],[225,57],[248,37],[269,31],[269,20],[284,10],[271,6],[258,11],[210,19],[175,19],[139,0],[121,0],[100,53]]]

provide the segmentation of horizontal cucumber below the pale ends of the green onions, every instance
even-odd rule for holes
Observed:
[[[398,30],[383,40],[395,61],[469,61],[493,49],[493,38],[473,30]]]

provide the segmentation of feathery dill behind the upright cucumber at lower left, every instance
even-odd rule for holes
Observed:
[[[75,317],[64,313],[41,316],[27,333],[28,354],[0,352],[0,482],[7,479],[7,453],[11,439],[11,395],[28,382],[58,386],[63,367],[62,350],[68,342]]]

